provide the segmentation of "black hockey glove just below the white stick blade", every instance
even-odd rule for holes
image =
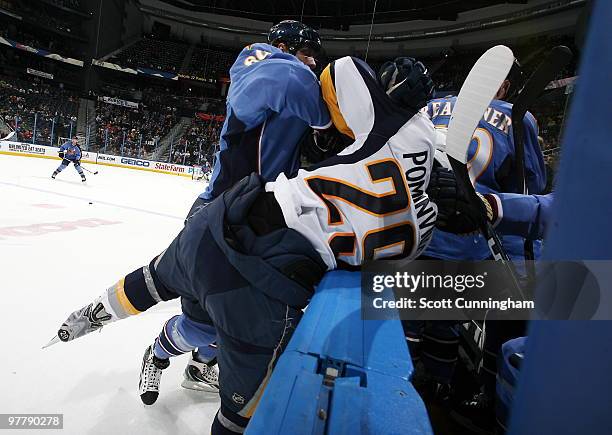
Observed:
[[[438,206],[436,227],[442,231],[469,234],[478,231],[485,219],[490,222],[496,219],[492,207],[495,201],[487,198],[489,195],[478,194],[481,202],[479,207],[473,207],[465,199],[453,172],[441,166],[432,171],[427,195]]]

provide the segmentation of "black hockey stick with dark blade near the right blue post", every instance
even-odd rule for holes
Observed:
[[[529,106],[533,105],[544,91],[546,85],[555,78],[559,71],[572,59],[572,51],[564,45],[553,48],[538,65],[531,77],[525,82],[523,89],[512,106],[512,137],[516,155],[516,176],[520,185],[520,193],[527,195],[527,173],[525,171],[525,130],[523,118]],[[535,259],[533,241],[525,239],[524,245],[527,278],[530,283],[535,281]]]

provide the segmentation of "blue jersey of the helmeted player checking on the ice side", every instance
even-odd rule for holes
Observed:
[[[206,191],[212,199],[252,172],[290,176],[309,127],[331,125],[317,77],[295,56],[269,44],[244,48],[230,69],[227,116]]]

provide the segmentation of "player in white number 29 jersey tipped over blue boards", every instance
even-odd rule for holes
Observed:
[[[433,84],[422,70],[409,75],[398,86],[419,89],[412,107],[421,107]],[[213,435],[244,431],[327,270],[415,258],[433,230],[437,207],[425,192],[434,158],[429,117],[395,104],[355,58],[328,66],[321,86],[351,145],[291,178],[244,178],[188,219],[162,254],[58,331],[70,341],[180,296],[183,313],[164,325],[143,358],[141,398],[152,404],[168,357],[207,344],[193,324],[209,314],[219,336],[221,409]],[[165,358],[160,348],[169,351]]]

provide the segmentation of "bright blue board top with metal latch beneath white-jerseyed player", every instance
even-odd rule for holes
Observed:
[[[399,320],[361,320],[360,274],[328,273],[247,434],[432,434]]]

